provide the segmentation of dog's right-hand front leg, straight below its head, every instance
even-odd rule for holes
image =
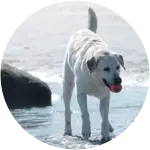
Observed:
[[[110,138],[110,127],[111,124],[109,123],[109,102],[110,102],[110,92],[107,92],[104,97],[100,99],[100,113],[102,116],[102,141],[109,141]]]

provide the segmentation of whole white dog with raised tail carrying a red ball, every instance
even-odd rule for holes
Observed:
[[[87,140],[91,135],[87,109],[87,95],[90,95],[100,99],[102,140],[108,141],[110,132],[113,132],[108,117],[110,91],[115,93],[121,91],[120,64],[124,69],[125,67],[123,57],[108,51],[105,42],[96,35],[97,17],[92,8],[88,9],[88,15],[88,29],[81,29],[71,36],[65,54],[63,65],[64,135],[72,135],[70,101],[75,85],[84,139]]]

